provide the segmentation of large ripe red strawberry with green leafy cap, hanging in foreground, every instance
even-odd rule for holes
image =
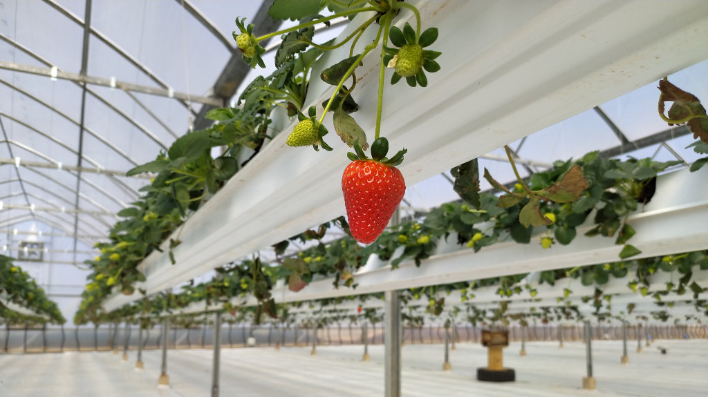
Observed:
[[[348,153],[353,160],[342,175],[342,192],[352,236],[363,244],[375,242],[391,219],[406,193],[406,182],[394,166],[403,161],[406,150],[390,160],[385,158],[388,141],[377,139],[371,146],[374,159],[368,159],[355,145],[358,155]]]

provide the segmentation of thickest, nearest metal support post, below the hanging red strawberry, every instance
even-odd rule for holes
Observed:
[[[384,396],[401,396],[401,304],[398,291],[384,292]]]

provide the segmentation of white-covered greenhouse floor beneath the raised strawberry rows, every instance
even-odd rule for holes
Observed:
[[[661,355],[657,346],[668,348]],[[493,384],[475,380],[486,366],[479,344],[459,343],[450,352],[452,371],[442,371],[442,345],[406,345],[402,350],[404,396],[708,396],[708,340],[658,340],[644,352],[629,344],[629,365],[621,365],[622,343],[593,342],[598,389],[581,389],[586,374],[585,345],[557,342],[519,343],[505,350],[504,365],[517,381]],[[383,396],[381,345],[224,349],[221,396]],[[142,397],[209,396],[212,350],[170,350],[169,387],[158,387],[161,353],[144,352],[144,370],[111,352],[65,352],[0,355],[0,396]]]

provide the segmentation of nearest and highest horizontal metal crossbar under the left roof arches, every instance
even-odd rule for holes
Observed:
[[[147,95],[155,95],[159,97],[175,98],[183,101],[197,102],[205,105],[222,106],[223,101],[212,97],[202,97],[200,95],[191,95],[189,93],[181,93],[172,90],[171,88],[154,88],[147,85],[139,85],[127,83],[126,81],[115,81],[112,78],[103,78],[95,76],[84,76],[81,73],[71,73],[67,71],[59,71],[59,69],[42,68],[40,66],[16,64],[15,62],[0,61],[0,69],[9,71],[18,71],[21,73],[30,73],[37,76],[46,76],[50,78],[60,78],[62,80],[76,81],[91,85],[101,85],[102,87],[120,88],[121,90],[129,90],[135,93]]]

